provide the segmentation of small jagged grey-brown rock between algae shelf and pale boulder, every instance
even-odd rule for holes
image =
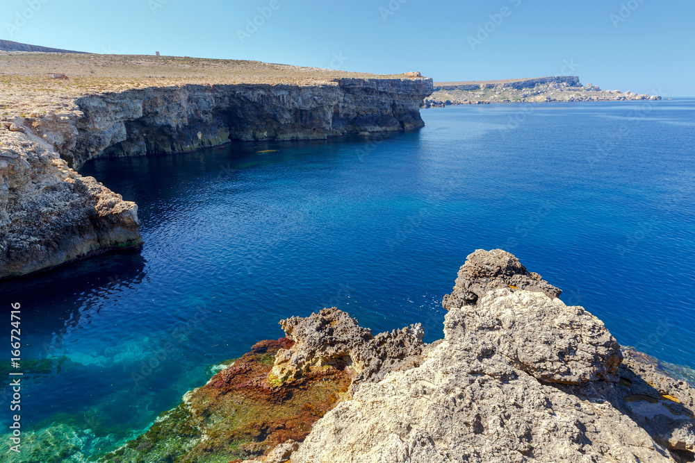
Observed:
[[[368,328],[337,308],[309,317],[280,321],[295,344],[275,356],[271,376],[280,381],[301,378],[323,367],[350,367],[357,375],[351,390],[362,382],[380,380],[389,371],[420,364],[424,330],[420,323],[374,336]]]

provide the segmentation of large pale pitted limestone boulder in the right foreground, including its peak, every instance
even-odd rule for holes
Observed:
[[[603,323],[502,252],[469,256],[418,367],[363,382],[291,461],[692,461],[693,389],[629,355],[618,368]]]

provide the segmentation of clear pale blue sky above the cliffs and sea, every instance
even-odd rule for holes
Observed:
[[[607,90],[695,96],[695,1],[482,3],[4,0],[0,38],[95,53],[420,71],[435,81],[570,74]],[[246,30],[259,8],[268,17]],[[479,26],[488,32],[478,35]]]

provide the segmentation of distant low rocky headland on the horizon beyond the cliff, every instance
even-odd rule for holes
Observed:
[[[423,108],[487,103],[546,103],[557,101],[636,101],[660,100],[661,96],[601,90],[577,76],[555,76],[506,81],[434,83],[434,93]]]

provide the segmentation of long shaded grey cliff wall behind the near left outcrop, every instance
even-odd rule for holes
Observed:
[[[318,85],[181,85],[82,96],[58,121],[32,118],[71,167],[99,155],[193,151],[229,140],[312,140],[424,125],[432,80],[335,78]]]

